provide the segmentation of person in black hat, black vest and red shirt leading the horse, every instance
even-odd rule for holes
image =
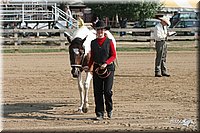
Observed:
[[[111,39],[105,36],[105,23],[99,20],[95,30],[97,38],[91,42],[89,69],[93,71],[93,87],[96,120],[104,118],[104,102],[107,117],[112,117],[112,87],[114,79],[116,50]],[[93,67],[92,67],[93,66]]]

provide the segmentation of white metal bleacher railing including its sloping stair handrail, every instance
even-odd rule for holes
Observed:
[[[47,23],[66,21],[72,28],[78,28],[78,22],[72,16],[57,7],[56,3],[17,3],[0,4],[0,22],[3,23]]]

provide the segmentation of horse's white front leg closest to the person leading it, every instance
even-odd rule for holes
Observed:
[[[86,79],[84,82],[84,89],[85,89],[85,93],[84,93],[84,105],[83,105],[83,112],[87,113],[88,112],[88,108],[89,108],[89,104],[88,104],[88,92],[89,92],[89,88],[90,88],[90,81],[92,79],[92,74],[90,72],[86,72]]]

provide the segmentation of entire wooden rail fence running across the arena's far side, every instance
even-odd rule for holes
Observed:
[[[69,32],[74,32],[75,29],[68,29]],[[149,46],[151,47],[154,44],[153,38],[153,29],[114,29],[111,28],[110,31],[114,34],[117,41],[149,41]],[[150,36],[132,36],[131,34],[126,34],[124,36],[120,36],[120,32],[150,32]],[[170,31],[175,32],[192,32],[193,36],[171,36],[168,37],[168,40],[198,40],[198,29],[197,28],[176,28],[170,29]],[[3,44],[11,43],[14,44],[16,49],[18,45],[26,42],[59,42],[61,49],[65,47],[65,44],[68,43],[67,38],[65,37],[65,29],[3,29],[1,40],[3,40]],[[23,33],[34,33],[39,35],[40,33],[59,33],[59,36],[22,36]]]

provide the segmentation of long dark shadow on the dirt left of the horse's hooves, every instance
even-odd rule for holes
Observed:
[[[67,113],[55,113],[55,108],[67,108],[74,106],[72,103],[15,103],[4,104],[2,106],[2,117],[7,119],[38,119],[38,120],[83,120],[93,119],[88,117],[79,117],[82,114],[74,114],[73,111]],[[72,117],[69,117],[72,116]],[[77,117],[76,117],[77,116]]]

